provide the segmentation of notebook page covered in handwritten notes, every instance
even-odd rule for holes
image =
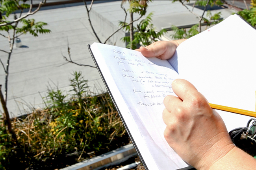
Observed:
[[[160,170],[188,167],[163,137],[163,99],[174,94],[171,82],[178,76],[169,62],[99,43],[92,44],[91,50],[121,114],[133,117],[125,119],[126,124],[137,124],[140,134],[134,130],[132,137],[148,169],[155,170],[154,164]]]

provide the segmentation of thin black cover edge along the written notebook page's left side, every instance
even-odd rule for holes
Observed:
[[[93,58],[93,61],[94,61],[95,65],[96,65],[96,67],[97,67],[97,69],[98,69],[98,72],[100,73],[100,77],[102,78],[102,80],[103,80],[103,82],[104,82],[104,84],[105,84],[105,86],[106,86],[106,88],[107,88],[107,90],[108,90],[108,93],[109,93],[109,95],[110,95],[110,97],[111,97],[111,100],[113,101],[113,103],[115,104],[115,107],[117,108],[117,112],[118,112],[119,116],[121,117],[121,120],[122,120],[122,122],[123,122],[123,124],[124,124],[124,127],[125,127],[126,131],[128,132],[129,137],[130,137],[131,140],[132,140],[132,144],[134,145],[134,148],[135,148],[136,152],[138,153],[139,158],[141,159],[144,168],[145,168],[146,170],[148,170],[148,167],[147,167],[147,165],[146,165],[146,163],[145,163],[143,157],[141,156],[141,153],[139,152],[139,149],[138,149],[138,147],[137,147],[137,145],[136,145],[136,143],[135,143],[135,141],[134,141],[134,139],[133,139],[133,137],[132,137],[132,134],[130,133],[130,130],[128,129],[128,127],[127,127],[127,125],[126,125],[126,123],[125,123],[125,121],[124,121],[124,118],[122,117],[121,112],[120,112],[119,108],[117,107],[117,104],[116,104],[116,102],[115,102],[115,100],[114,100],[114,98],[113,98],[113,96],[112,96],[112,93],[110,92],[110,89],[108,88],[108,85],[107,85],[107,83],[106,83],[106,80],[104,79],[104,77],[103,77],[103,75],[102,75],[102,71],[100,70],[100,67],[98,66],[98,63],[96,62],[96,59],[95,59],[95,57],[94,57],[94,55],[93,55],[93,51],[91,51],[91,45],[90,45],[90,44],[88,44],[88,49],[89,49],[89,51],[90,51],[91,57]]]

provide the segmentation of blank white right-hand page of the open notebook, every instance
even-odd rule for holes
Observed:
[[[183,42],[177,48],[176,69],[210,103],[255,111],[255,49],[256,30],[233,15]],[[250,119],[235,113],[217,112],[228,131],[246,126]]]

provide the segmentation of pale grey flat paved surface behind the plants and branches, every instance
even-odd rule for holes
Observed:
[[[105,40],[117,29],[119,21],[123,21],[124,11],[120,5],[121,1],[93,5],[90,12],[91,20],[102,40]],[[190,8],[192,9],[192,6]],[[171,25],[184,26],[198,22],[195,15],[179,2],[150,2],[147,14],[152,11],[154,11],[153,24],[157,30],[171,27]],[[235,12],[230,9],[220,9],[219,11],[222,12],[224,18]],[[194,12],[198,15],[202,14],[201,9],[194,8]],[[218,10],[212,11],[212,13],[215,12]],[[89,25],[83,3],[42,7],[30,18],[48,23],[45,28],[52,32],[39,35],[39,37],[22,35],[20,39],[24,48],[15,47],[13,50],[9,68],[7,100],[11,117],[29,113],[30,108],[44,107],[40,94],[45,97],[49,86],[56,88],[54,85],[56,84],[60,90],[69,91],[69,79],[72,78],[73,71],[81,71],[84,78],[88,80],[91,90],[95,93],[98,93],[96,89],[100,89],[100,92],[106,91],[97,69],[67,63],[62,57],[62,54],[68,57],[68,39],[72,60],[95,66],[87,44],[93,44],[93,42],[97,42],[97,39]],[[119,31],[109,39],[107,44],[124,47],[124,43],[120,40],[124,35],[124,31]],[[171,37],[167,34],[163,39],[170,40]],[[0,49],[7,51],[9,49],[8,42],[4,37],[0,37]],[[1,52],[0,58],[6,63],[6,53]],[[0,67],[0,84],[4,85],[4,78],[4,70]],[[3,88],[2,91],[4,91]],[[0,112],[2,112],[2,108]]]

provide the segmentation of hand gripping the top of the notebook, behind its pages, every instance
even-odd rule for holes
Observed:
[[[141,46],[139,49],[135,49],[135,51],[140,51],[145,57],[157,57],[167,60],[173,57],[176,48],[185,40],[157,41],[146,47]]]

